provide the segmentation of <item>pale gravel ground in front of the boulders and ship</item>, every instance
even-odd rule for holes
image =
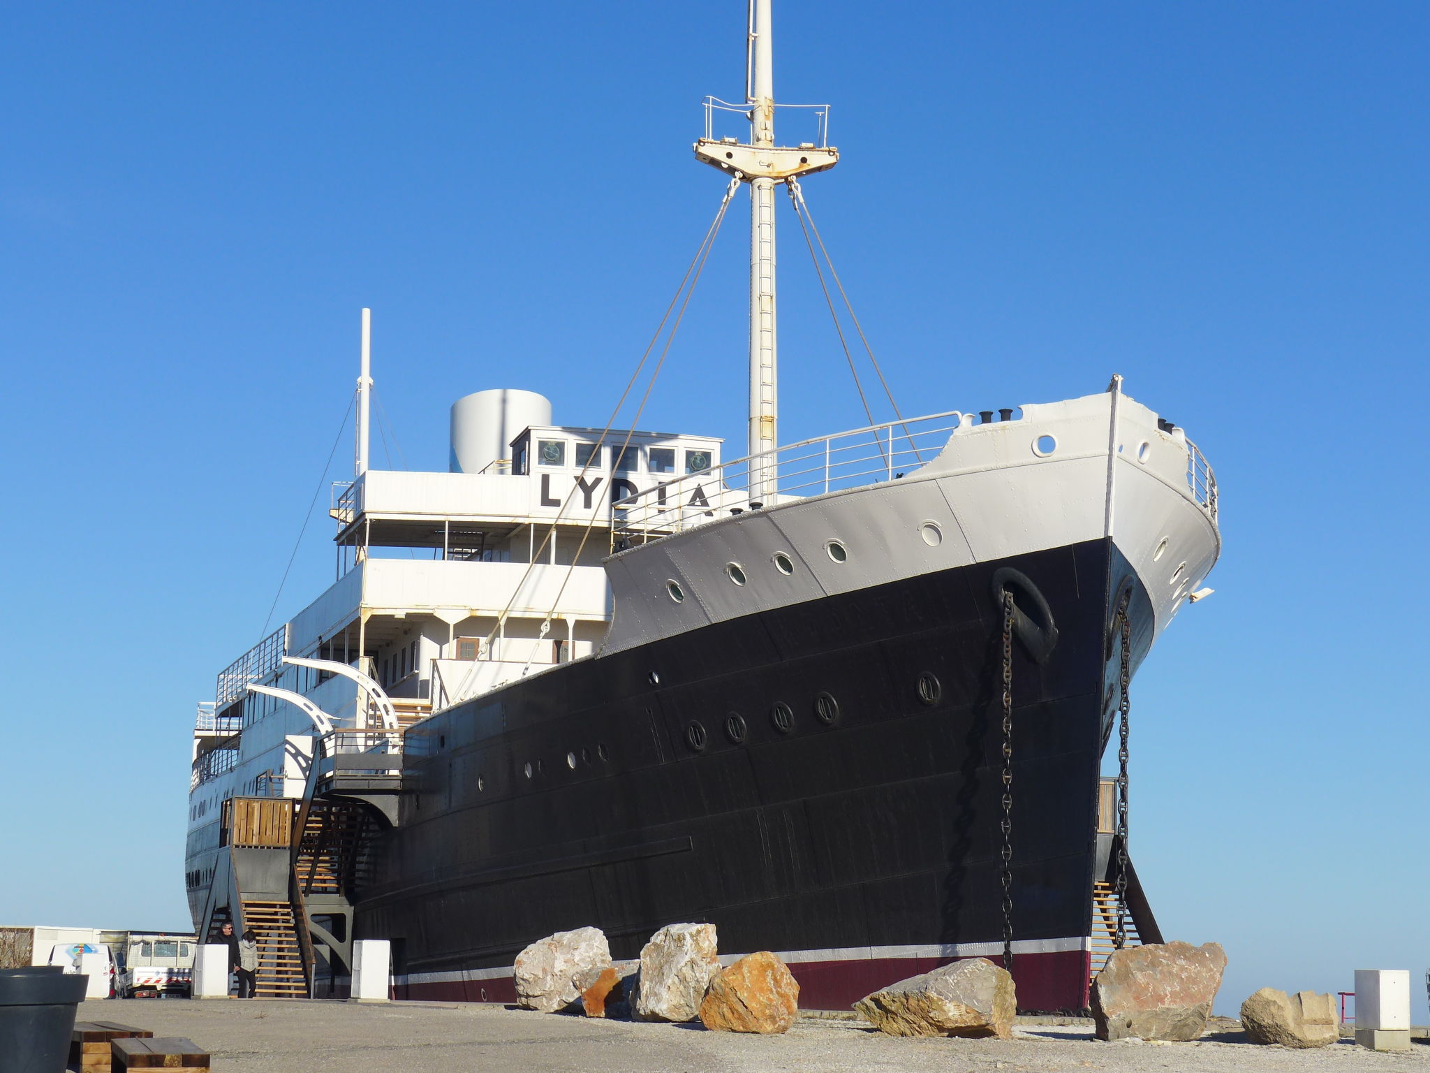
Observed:
[[[1085,1024],[1022,1024],[1017,1039],[894,1039],[864,1021],[807,1017],[784,1036],[632,1024],[500,1006],[356,1006],[280,1000],[86,1001],[80,1020],[187,1036],[220,1073],[882,1073],[912,1070],[1236,1070],[1430,1073],[1430,1046],[1374,1054],[1347,1040],[1320,1050],[1258,1047],[1227,1023],[1197,1043],[1098,1043]],[[1234,1024],[1234,1023],[1233,1023]]]

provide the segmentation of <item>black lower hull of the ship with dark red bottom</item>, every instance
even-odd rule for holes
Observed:
[[[492,987],[458,997],[500,999],[509,980],[480,970],[509,970],[552,931],[595,924],[621,959],[662,924],[711,921],[722,951],[828,953],[792,966],[811,1007],[847,1006],[970,944],[1001,950],[992,582],[1005,567],[1032,581],[1058,631],[1041,664],[1014,645],[1020,1006],[1081,1009],[1088,956],[1067,940],[1091,931],[1115,707],[1107,638],[1124,585],[1135,661],[1153,635],[1147,595],[1107,539],[709,625],[418,724],[400,824],[375,847],[355,934],[398,940],[395,973],[413,996],[452,994],[435,984],[466,974]],[[821,694],[838,702],[831,724]]]

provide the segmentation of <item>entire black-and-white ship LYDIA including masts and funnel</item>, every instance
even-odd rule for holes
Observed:
[[[259,994],[342,996],[385,939],[396,997],[511,1001],[536,939],[633,959],[708,921],[808,1009],[988,957],[1020,1009],[1081,1011],[1161,940],[1128,684],[1210,592],[1213,471],[1121,376],[781,445],[776,192],[838,162],[827,124],[779,144],[781,107],[751,0],[745,99],[694,146],[722,213],[751,200],[742,458],[486,388],[446,472],[373,469],[363,310],[336,578],[194,722],[189,906],[259,933]]]

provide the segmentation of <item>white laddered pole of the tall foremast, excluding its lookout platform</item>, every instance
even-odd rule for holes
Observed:
[[[745,84],[749,109],[749,142],[756,149],[775,144],[775,76],[769,0],[749,0],[749,47]],[[749,180],[749,454],[775,449],[776,386],[775,338],[775,180]],[[775,492],[774,459],[751,465],[749,492],[768,502]]]

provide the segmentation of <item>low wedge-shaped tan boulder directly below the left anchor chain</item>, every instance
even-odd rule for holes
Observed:
[[[899,980],[859,999],[855,1011],[889,1036],[997,1036],[1012,1039],[1018,1011],[1012,977],[974,957]]]

